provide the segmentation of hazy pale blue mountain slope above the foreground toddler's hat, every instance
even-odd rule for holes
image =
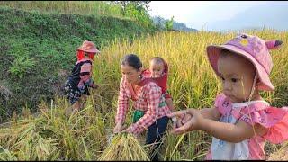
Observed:
[[[259,4],[235,15],[228,21],[207,23],[208,30],[230,31],[269,28],[288,31],[288,2]]]

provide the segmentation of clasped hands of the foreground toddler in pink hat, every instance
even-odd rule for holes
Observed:
[[[172,130],[172,133],[182,134],[187,131],[198,130],[202,126],[203,117],[198,110],[187,109],[183,111],[173,112],[167,115],[168,117],[177,117],[177,128]]]

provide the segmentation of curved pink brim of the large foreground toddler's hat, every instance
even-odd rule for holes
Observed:
[[[247,53],[245,50],[243,49],[238,49],[235,46],[232,45],[211,45],[207,47],[207,55],[208,55],[208,59],[209,62],[211,64],[211,67],[213,68],[213,70],[215,71],[216,75],[219,76],[219,72],[218,72],[218,59],[220,57],[220,52],[221,49],[227,49],[229,51],[235,52],[240,56],[243,56],[245,58],[247,58],[248,60],[250,60],[254,67],[257,69],[257,74],[259,76],[260,79],[260,83],[258,83],[257,87],[259,90],[266,90],[266,91],[273,91],[275,90],[275,87],[272,85],[269,75],[266,72],[266,69],[264,67],[262,67],[262,65],[260,65],[257,60],[255,58],[253,58],[249,53]]]

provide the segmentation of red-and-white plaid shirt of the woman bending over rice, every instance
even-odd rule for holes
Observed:
[[[116,122],[123,123],[129,107],[129,99],[131,98],[130,90],[126,85],[126,81],[121,78],[120,94],[118,97],[118,108],[115,117]],[[145,112],[144,116],[134,124],[131,124],[128,130],[130,133],[139,134],[152,125],[157,119],[170,113],[169,108],[165,105],[159,108],[159,103],[165,100],[161,97],[161,88],[153,82],[141,87],[137,94],[137,100],[133,102],[133,108]]]

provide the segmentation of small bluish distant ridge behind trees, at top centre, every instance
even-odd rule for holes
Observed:
[[[153,19],[153,23],[155,23],[156,25],[158,25],[160,28],[164,29],[165,28],[165,23],[167,21],[169,21],[168,19],[165,19],[163,17],[160,17],[160,16],[153,16],[152,17]],[[186,24],[184,23],[178,23],[178,22],[173,22],[173,29],[175,31],[198,31],[196,29],[193,29],[193,28],[188,28],[186,26]]]

